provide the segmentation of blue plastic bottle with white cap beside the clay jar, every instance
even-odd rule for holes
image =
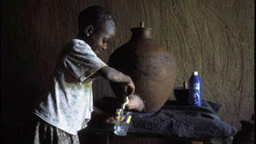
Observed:
[[[201,79],[198,72],[189,78],[189,106],[201,107]]]

